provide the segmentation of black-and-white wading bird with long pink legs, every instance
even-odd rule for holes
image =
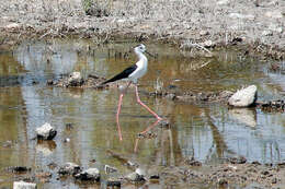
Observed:
[[[140,101],[139,95],[138,95],[138,86],[137,86],[138,79],[142,78],[147,73],[147,69],[148,69],[148,59],[144,54],[146,52],[150,56],[151,56],[151,54],[149,54],[147,51],[146,46],[144,44],[136,46],[134,48],[134,51],[138,58],[138,61],[135,64],[126,68],[121,73],[118,73],[115,76],[111,78],[110,80],[101,83],[101,85],[104,85],[104,84],[115,82],[118,80],[128,81],[128,84],[126,85],[125,91],[123,93],[121,93],[119,99],[118,99],[117,114],[116,114],[116,121],[118,125],[118,129],[119,129],[118,117],[119,117],[119,113],[121,113],[124,93],[126,92],[126,90],[128,88],[128,86],[132,83],[135,84],[135,94],[136,94],[137,103],[140,104],[142,107],[145,107],[150,114],[152,114],[157,118],[157,120],[162,120],[162,118],[160,116],[158,116],[158,114],[156,114],[153,110],[151,110],[147,105],[145,105]],[[119,135],[121,135],[121,129],[118,131],[119,131]],[[122,135],[121,135],[121,140],[122,140]]]

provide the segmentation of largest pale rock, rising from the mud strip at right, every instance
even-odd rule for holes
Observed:
[[[255,103],[256,96],[258,87],[255,85],[250,85],[237,91],[232,96],[230,96],[228,104],[235,107],[249,107]]]

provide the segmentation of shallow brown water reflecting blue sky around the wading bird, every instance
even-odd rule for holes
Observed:
[[[119,141],[115,122],[116,90],[61,88],[45,84],[48,79],[71,71],[80,71],[84,76],[110,78],[136,60],[130,48],[134,45],[127,42],[106,46],[84,40],[30,42],[13,51],[1,52],[0,168],[23,165],[34,172],[49,172],[53,174],[49,182],[38,181],[43,188],[81,188],[70,180],[58,180],[58,166],[75,162],[103,170],[107,164],[122,175],[129,173],[107,150],[138,163],[148,174],[180,166],[192,156],[214,164],[236,155],[261,163],[285,160],[282,114],[228,109],[219,104],[176,103],[141,93],[141,101],[167,117],[171,128],[155,127],[151,130],[155,138],[137,140],[137,133],[156,120],[136,104],[130,90],[123,102],[123,141]],[[215,52],[215,58],[194,59],[189,52],[166,45],[148,44],[147,47],[158,57],[149,59],[149,71],[140,81],[141,91],[174,85],[181,91],[214,92],[256,84],[259,99],[284,98],[284,80],[281,80],[284,75],[270,72],[265,62],[244,58],[235,50]],[[45,122],[50,122],[58,134],[52,142],[37,143],[33,140],[35,128]],[[70,142],[64,142],[67,138]],[[56,164],[56,168],[48,166],[50,164]],[[12,181],[20,178],[21,175],[14,178],[1,172],[0,186],[11,187]]]

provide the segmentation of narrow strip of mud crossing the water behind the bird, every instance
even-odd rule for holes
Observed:
[[[124,81],[112,82],[109,84],[102,85],[105,78],[99,75],[89,74],[87,79],[79,76],[73,79],[72,75],[79,72],[72,72],[67,75],[61,75],[60,78],[48,80],[47,85],[57,86],[57,87],[79,87],[79,88],[94,88],[94,90],[110,90],[110,88],[122,88],[126,85]],[[134,84],[130,84],[129,87],[134,87]],[[146,92],[140,91],[147,96],[150,97],[160,97],[167,98],[174,102],[183,103],[220,103],[229,105],[229,98],[235,94],[232,91],[220,91],[220,92],[192,92],[183,91],[176,85],[169,85],[162,87],[159,91]],[[282,99],[272,99],[272,101],[256,101],[250,107],[260,108],[266,113],[284,113],[285,111],[285,102]],[[229,108],[233,108],[229,106]]]

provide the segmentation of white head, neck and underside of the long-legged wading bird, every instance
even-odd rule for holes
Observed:
[[[140,47],[144,48],[140,49]],[[138,62],[136,62],[137,69],[128,75],[128,80],[133,81],[134,83],[137,83],[137,80],[144,76],[148,70],[148,59],[142,54],[144,51],[145,51],[145,46],[142,45],[135,48],[135,52],[138,57]]]

